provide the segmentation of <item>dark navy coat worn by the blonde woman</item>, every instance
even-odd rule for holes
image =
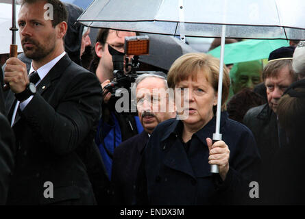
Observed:
[[[255,181],[260,155],[252,132],[221,113],[223,141],[230,149],[230,169],[222,181],[210,173],[206,138],[215,133],[216,118],[193,134],[186,153],[181,120],[160,123],[149,138],[138,175],[138,204],[244,204]],[[180,130],[180,131],[179,131]]]

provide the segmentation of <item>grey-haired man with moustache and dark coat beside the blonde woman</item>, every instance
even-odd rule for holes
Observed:
[[[143,74],[136,79],[134,86],[138,117],[144,131],[114,149],[111,183],[115,205],[135,204],[136,176],[149,136],[159,123],[175,118],[174,105],[169,104],[172,100],[166,94],[166,75]],[[167,97],[162,99],[162,95]]]

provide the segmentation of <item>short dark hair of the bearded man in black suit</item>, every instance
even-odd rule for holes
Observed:
[[[45,1],[45,3],[53,5],[53,20],[51,20],[53,27],[56,27],[56,25],[62,21],[68,21],[68,12],[60,0],[22,0],[21,5],[24,5],[25,3],[33,4],[40,1]]]

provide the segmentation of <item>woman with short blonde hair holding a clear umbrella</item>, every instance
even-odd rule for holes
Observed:
[[[173,118],[154,129],[143,155],[139,174],[140,203],[151,205],[245,204],[249,181],[260,162],[252,132],[228,118],[225,101],[230,79],[223,69],[220,131],[212,142],[219,60],[204,53],[188,53],[175,60],[169,70],[169,88],[179,89],[175,99],[183,120]],[[176,101],[177,103],[177,101]],[[210,165],[219,166],[212,175]],[[256,179],[257,180],[257,179]],[[142,202],[141,202],[142,201]]]

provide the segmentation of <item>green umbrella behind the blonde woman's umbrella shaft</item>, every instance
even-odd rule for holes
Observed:
[[[245,40],[225,44],[224,63],[234,64],[262,60],[268,58],[271,51],[280,47],[289,47],[288,40]],[[209,51],[208,54],[219,58],[220,49],[219,46]]]

